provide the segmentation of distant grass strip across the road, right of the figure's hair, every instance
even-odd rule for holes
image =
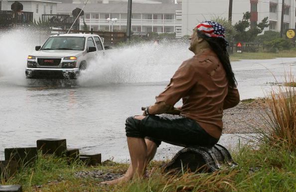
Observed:
[[[234,53],[230,55],[230,61],[239,61],[241,59],[275,59],[283,57],[296,57],[296,50],[285,50],[279,53],[256,52],[256,53]]]

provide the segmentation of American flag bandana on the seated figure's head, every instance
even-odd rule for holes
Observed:
[[[203,32],[205,35],[209,37],[221,37],[226,41],[226,45],[228,46],[228,42],[225,39],[224,33],[225,28],[217,22],[214,21],[204,21],[199,23],[196,26],[197,30]]]

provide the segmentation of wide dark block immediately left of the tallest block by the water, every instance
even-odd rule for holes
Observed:
[[[18,166],[27,165],[36,160],[37,147],[6,148],[4,155],[6,161],[16,161]]]

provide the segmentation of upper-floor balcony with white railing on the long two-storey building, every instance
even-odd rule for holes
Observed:
[[[107,19],[84,19],[84,21],[88,25],[108,25]],[[83,19],[80,19],[80,24],[83,24]],[[132,19],[132,25],[173,26],[181,24],[181,21],[174,19]],[[127,19],[119,19],[114,25],[127,25]]]

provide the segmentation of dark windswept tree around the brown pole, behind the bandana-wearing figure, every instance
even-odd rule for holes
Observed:
[[[238,31],[234,37],[236,42],[252,42],[258,34],[263,32],[265,27],[269,26],[268,17],[265,17],[260,23],[256,23],[253,27],[250,27],[250,18],[251,12],[247,11],[244,13],[243,19],[234,25]]]

